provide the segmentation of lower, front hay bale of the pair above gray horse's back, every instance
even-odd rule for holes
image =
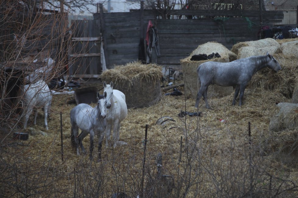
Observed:
[[[275,53],[281,53],[281,49],[279,46],[267,46],[267,47],[254,47],[254,46],[246,46],[241,47],[238,52],[238,59],[247,58],[250,56],[263,56],[266,53],[271,55]]]

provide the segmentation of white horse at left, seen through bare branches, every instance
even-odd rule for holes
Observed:
[[[39,80],[36,83],[24,85],[23,93],[23,102],[25,104],[23,112],[24,129],[27,128],[27,122],[32,111],[34,111],[34,125],[36,125],[37,108],[43,108],[44,126],[48,130],[48,110],[52,103],[52,95],[48,85],[43,80]]]

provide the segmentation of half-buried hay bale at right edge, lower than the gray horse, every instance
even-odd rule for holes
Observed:
[[[278,110],[275,111],[270,119],[270,131],[282,131],[285,129],[292,130],[298,127],[298,104],[281,102],[276,105]]]

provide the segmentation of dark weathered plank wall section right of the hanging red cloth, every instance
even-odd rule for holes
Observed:
[[[196,15],[201,19],[157,19],[161,48],[157,63],[161,65],[179,66],[181,59],[209,41],[222,43],[231,49],[237,42],[259,39],[259,11],[172,10],[171,13]],[[266,11],[263,24],[281,19],[282,12]]]

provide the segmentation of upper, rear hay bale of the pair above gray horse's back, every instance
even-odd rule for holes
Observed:
[[[235,45],[232,46],[231,51],[238,55],[239,50],[242,47],[246,47],[246,46],[252,46],[252,47],[276,46],[276,47],[280,47],[280,44],[275,39],[266,38],[266,39],[260,39],[260,40],[257,40],[257,41],[246,41],[246,42],[236,43]]]

